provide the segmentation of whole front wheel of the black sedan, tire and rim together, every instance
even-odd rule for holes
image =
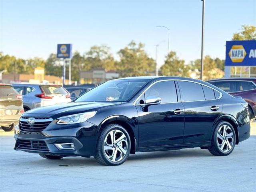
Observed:
[[[109,124],[99,135],[94,158],[102,165],[116,166],[126,161],[130,150],[128,132],[118,124]]]

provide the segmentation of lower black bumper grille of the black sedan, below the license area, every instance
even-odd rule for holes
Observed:
[[[44,141],[31,141],[31,140],[22,140],[22,139],[18,139],[17,149],[49,151]]]

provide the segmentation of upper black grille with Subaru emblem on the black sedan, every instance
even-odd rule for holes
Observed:
[[[40,119],[35,118],[36,120],[40,120],[40,121],[35,121],[34,124],[28,124],[28,122],[26,121],[28,118],[22,117],[20,119],[20,124],[19,124],[20,130],[29,131],[29,132],[43,131],[52,122],[52,119],[51,118],[42,119],[42,118],[43,117],[41,117]]]

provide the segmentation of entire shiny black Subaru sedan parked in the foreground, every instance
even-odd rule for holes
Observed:
[[[138,151],[200,147],[226,156],[249,136],[243,99],[199,80],[134,77],[105,82],[71,103],[25,112],[14,149],[120,165]]]

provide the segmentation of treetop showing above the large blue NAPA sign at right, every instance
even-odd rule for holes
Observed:
[[[235,33],[232,40],[256,40],[256,26],[242,25],[242,31]]]

